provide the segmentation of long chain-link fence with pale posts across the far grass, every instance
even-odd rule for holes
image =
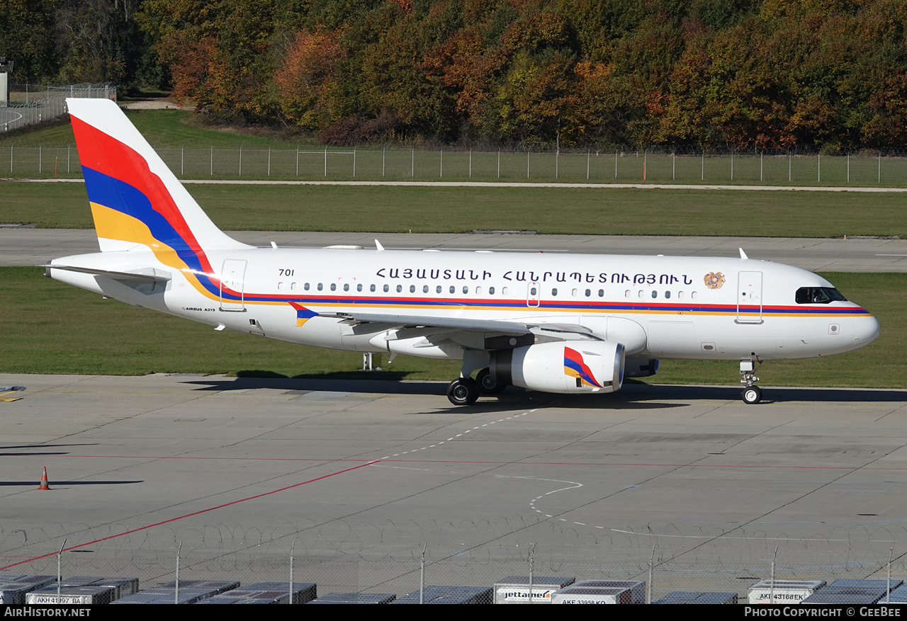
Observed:
[[[510,181],[907,187],[897,152],[514,151],[158,147],[181,179]],[[73,146],[0,147],[0,174],[81,177]]]

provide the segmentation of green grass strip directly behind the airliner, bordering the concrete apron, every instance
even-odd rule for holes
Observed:
[[[903,387],[907,274],[823,274],[879,318],[868,347],[823,359],[764,364],[764,386]],[[36,267],[0,268],[4,291],[0,373],[222,373],[355,377],[362,355],[279,343],[124,305],[45,278]],[[371,378],[451,380],[456,363],[398,356]],[[736,363],[667,361],[654,383],[738,382]]]

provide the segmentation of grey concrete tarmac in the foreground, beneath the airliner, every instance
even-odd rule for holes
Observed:
[[[66,539],[70,573],[144,586],[172,579],[180,541],[183,577],[255,579],[286,579],[295,542],[296,579],[319,592],[414,590],[424,545],[433,584],[528,573],[531,544],[537,576],[640,579],[654,547],[682,572],[657,572],[653,596],[743,594],[775,546],[785,577],[879,577],[892,546],[905,573],[903,390],[764,386],[753,406],[734,387],[630,383],[454,407],[444,383],[0,384],[26,387],[0,402],[0,571],[55,573],[54,556],[25,561]]]

